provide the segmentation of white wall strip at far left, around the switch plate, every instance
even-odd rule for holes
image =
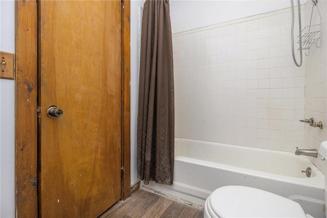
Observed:
[[[0,1],[0,50],[15,52],[14,1]],[[15,217],[15,83],[0,80],[0,217]]]

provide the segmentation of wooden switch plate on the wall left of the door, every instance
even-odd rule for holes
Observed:
[[[0,78],[14,79],[14,54],[0,52]]]

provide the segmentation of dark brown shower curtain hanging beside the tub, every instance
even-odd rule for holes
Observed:
[[[169,1],[143,9],[137,115],[137,178],[173,184],[174,75]]]

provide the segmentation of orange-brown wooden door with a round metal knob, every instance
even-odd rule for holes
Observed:
[[[39,214],[96,217],[121,198],[121,1],[38,14]]]

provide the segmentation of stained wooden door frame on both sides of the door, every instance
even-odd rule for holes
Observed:
[[[122,178],[121,199],[130,184],[130,0],[122,10]],[[16,217],[37,217],[37,1],[15,1],[15,209]]]

